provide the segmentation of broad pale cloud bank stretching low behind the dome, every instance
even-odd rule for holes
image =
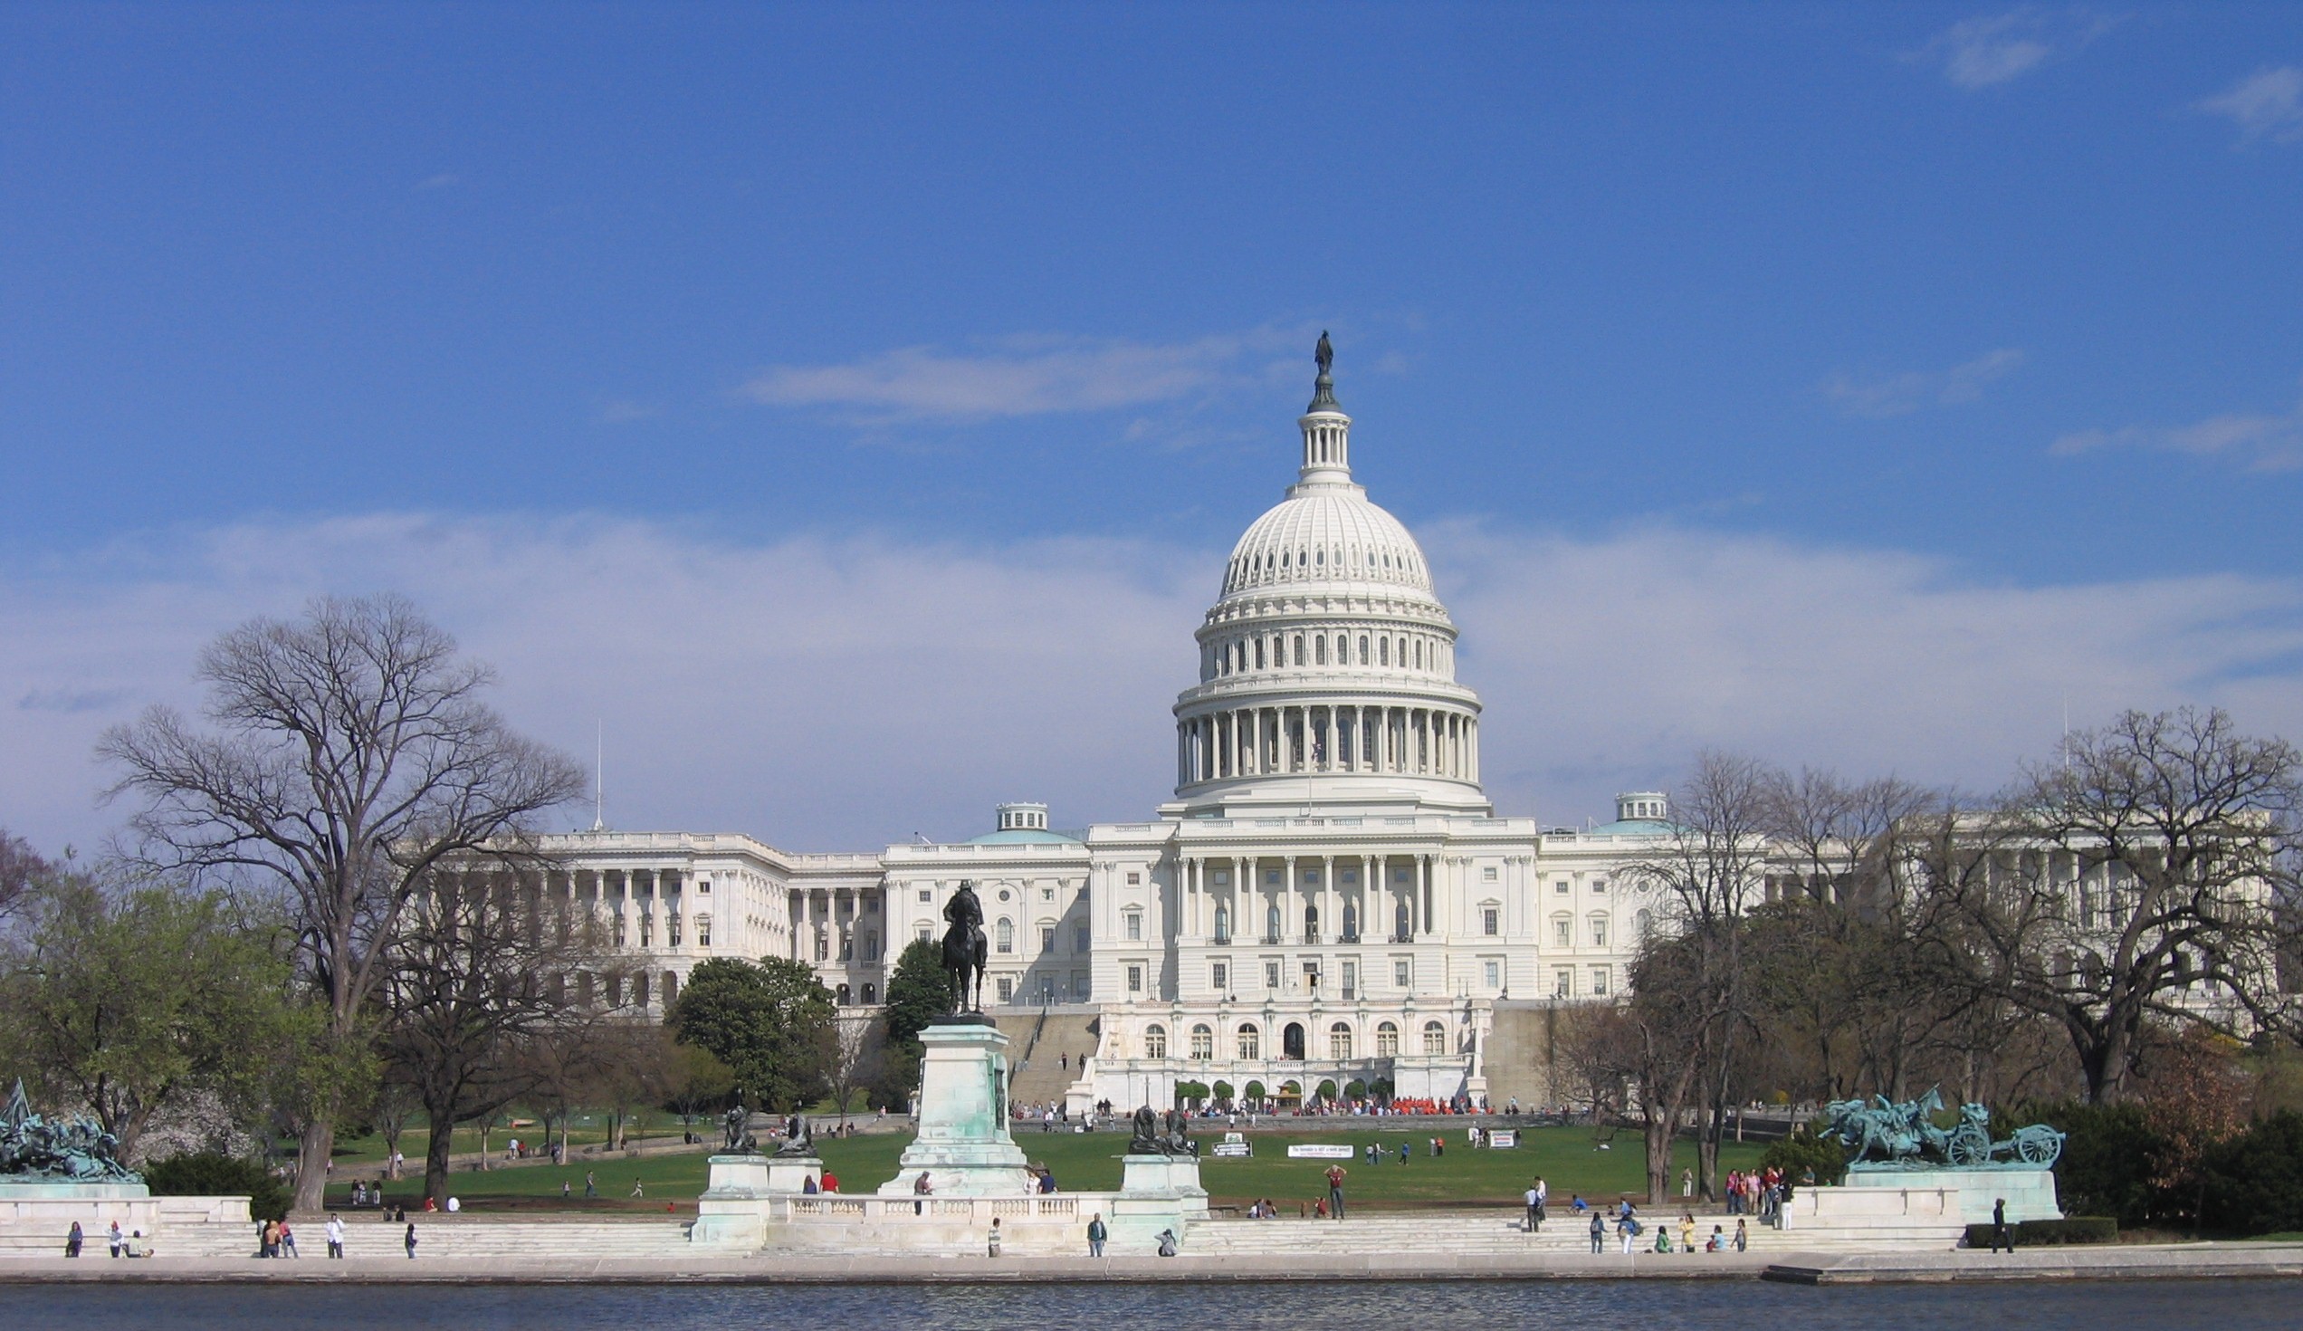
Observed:
[[[1690,530],[1428,532],[1504,813],[1575,822],[1704,744],[1997,785],[2075,718],[2220,702],[2303,735],[2303,585],[1978,585],[1935,560]],[[608,820],[795,850],[967,836],[1000,799],[1145,817],[1218,546],[891,537],[709,543],[677,525],[375,516],[140,539],[0,578],[0,827],[92,843],[97,732],[196,702],[191,656],[316,592],[401,590],[590,755]],[[569,811],[567,822],[587,820]]]

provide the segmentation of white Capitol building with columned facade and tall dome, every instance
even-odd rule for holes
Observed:
[[[1621,794],[1580,831],[1495,815],[1455,624],[1416,539],[1352,481],[1329,362],[1322,336],[1297,484],[1195,633],[1152,820],[1057,831],[1048,806],[1002,804],[983,836],[866,854],[553,836],[564,891],[631,949],[608,999],[656,1011],[698,960],[790,956],[868,1009],[970,880],[1018,1101],[1541,1098],[1543,1018],[1612,995],[1660,912],[1617,877],[1665,836],[1663,797]]]

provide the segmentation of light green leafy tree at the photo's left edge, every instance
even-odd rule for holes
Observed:
[[[292,1043],[276,944],[223,893],[41,884],[0,949],[0,1062],[92,1112],[122,1156],[193,1092],[253,1108]]]

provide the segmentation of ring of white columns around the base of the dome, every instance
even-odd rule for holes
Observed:
[[[1177,723],[1175,771],[1177,785],[1297,771],[1479,781],[1479,721],[1442,707],[1232,707]]]

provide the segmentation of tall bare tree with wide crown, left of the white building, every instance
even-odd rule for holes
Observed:
[[[111,730],[99,744],[122,769],[111,794],[145,799],[134,831],[152,864],[290,898],[325,1039],[364,1055],[364,1009],[421,877],[520,834],[578,794],[583,771],[511,732],[479,700],[493,672],[398,596],[242,624],[200,654],[198,677],[214,730],[166,707]],[[362,1057],[334,1066],[366,1071]],[[313,1094],[297,1209],[320,1207],[343,1101],[325,1085]]]

